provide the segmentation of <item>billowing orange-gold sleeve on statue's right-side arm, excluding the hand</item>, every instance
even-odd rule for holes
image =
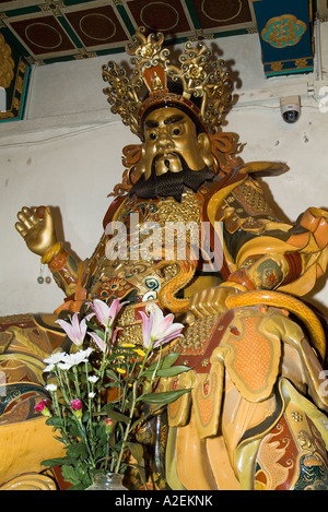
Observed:
[[[328,211],[307,209],[286,229],[279,223],[248,239],[235,257],[227,284],[241,289],[280,290],[302,297],[327,272]]]

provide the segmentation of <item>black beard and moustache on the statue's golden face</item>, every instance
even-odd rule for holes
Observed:
[[[211,181],[214,178],[208,166],[204,166],[200,170],[192,170],[188,167],[185,158],[181,155],[177,155],[181,162],[183,170],[173,172],[167,170],[164,175],[156,176],[155,164],[156,159],[162,155],[157,155],[152,163],[152,174],[148,180],[144,176],[137,181],[130,190],[130,195],[136,194],[143,199],[156,199],[159,197],[168,198],[173,197],[179,203],[181,202],[183,192],[185,187],[197,192],[199,187],[204,181]]]

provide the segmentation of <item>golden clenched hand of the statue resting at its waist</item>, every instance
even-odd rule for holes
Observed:
[[[197,291],[190,298],[189,311],[197,317],[210,317],[212,314],[224,314],[227,311],[226,297],[238,293],[232,286],[213,286]]]

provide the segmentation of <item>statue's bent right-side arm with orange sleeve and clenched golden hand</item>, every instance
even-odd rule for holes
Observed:
[[[231,198],[229,206],[235,201],[235,197]],[[223,219],[229,238],[224,250],[235,249],[227,251],[231,273],[219,287],[202,290],[191,298],[190,310],[196,315],[226,311],[226,297],[241,291],[278,290],[304,296],[326,273],[327,211],[308,209],[295,225],[286,225],[272,217],[262,218],[262,227],[253,235],[247,231],[246,224],[245,229],[241,224],[239,229],[229,233],[231,216]]]

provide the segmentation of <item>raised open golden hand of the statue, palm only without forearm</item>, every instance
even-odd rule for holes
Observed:
[[[16,230],[24,238],[28,249],[43,257],[57,242],[50,209],[24,206],[17,217],[20,222],[15,224]]]

